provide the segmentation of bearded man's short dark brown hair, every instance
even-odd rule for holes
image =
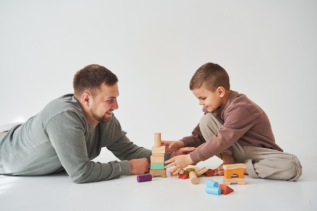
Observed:
[[[74,75],[74,96],[79,99],[83,93],[89,92],[94,98],[102,83],[112,86],[116,82],[118,79],[110,70],[98,64],[91,64],[78,70]]]

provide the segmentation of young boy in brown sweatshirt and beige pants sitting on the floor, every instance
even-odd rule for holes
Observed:
[[[177,174],[189,164],[216,155],[223,163],[214,175],[223,175],[223,164],[238,162],[247,165],[245,174],[251,178],[294,181],[301,176],[297,157],[275,144],[265,112],[244,94],[230,90],[229,76],[221,66],[201,66],[192,76],[189,88],[204,106],[205,115],[191,136],[162,141],[167,151],[196,147],[189,154],[167,160],[166,168],[174,166],[170,172]]]

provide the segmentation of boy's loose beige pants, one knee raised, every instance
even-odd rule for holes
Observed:
[[[217,134],[221,126],[212,113],[205,114],[200,120],[200,129],[205,140],[210,140]],[[234,157],[236,162],[246,163],[247,172],[252,178],[294,181],[302,175],[302,166],[298,158],[286,152],[244,146],[235,142],[224,153]],[[219,155],[216,156],[221,158]]]

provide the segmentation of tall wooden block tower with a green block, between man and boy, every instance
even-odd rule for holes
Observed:
[[[154,133],[154,146],[152,146],[150,174],[152,178],[155,174],[166,178],[166,169],[164,168],[165,146],[161,145],[161,133]]]

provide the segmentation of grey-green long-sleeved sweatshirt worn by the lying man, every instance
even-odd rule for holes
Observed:
[[[118,159],[90,161],[107,147]],[[93,127],[73,94],[51,101],[25,123],[0,134],[0,174],[47,175],[65,169],[75,183],[96,182],[130,175],[128,160],[151,150],[131,142],[112,114],[111,121]]]

